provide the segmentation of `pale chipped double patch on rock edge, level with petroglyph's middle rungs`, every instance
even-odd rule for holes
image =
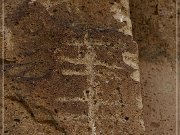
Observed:
[[[134,71],[130,77],[137,82],[140,82],[140,73],[139,73],[139,66],[138,66],[138,55],[137,54],[133,54],[130,52],[124,52],[122,53],[123,56],[123,61],[129,65],[130,67],[132,67],[133,69],[136,69],[136,71]]]

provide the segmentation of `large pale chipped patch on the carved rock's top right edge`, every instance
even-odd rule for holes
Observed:
[[[129,9],[129,4],[126,3],[122,3],[124,4],[124,7],[126,9]],[[120,28],[119,31],[123,32],[126,35],[131,35],[132,36],[132,24],[131,24],[131,20],[130,17],[127,15],[127,13],[125,13],[125,11],[123,11],[120,7],[120,4],[118,3],[114,3],[114,5],[110,8],[110,12],[113,12],[114,15],[114,19],[116,19],[118,22],[123,23],[126,22],[127,25]]]

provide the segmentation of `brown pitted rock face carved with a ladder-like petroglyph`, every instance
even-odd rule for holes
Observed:
[[[126,0],[7,0],[5,9],[5,134],[143,134]]]

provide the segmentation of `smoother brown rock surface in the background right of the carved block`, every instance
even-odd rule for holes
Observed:
[[[130,0],[147,135],[176,133],[176,1]]]

